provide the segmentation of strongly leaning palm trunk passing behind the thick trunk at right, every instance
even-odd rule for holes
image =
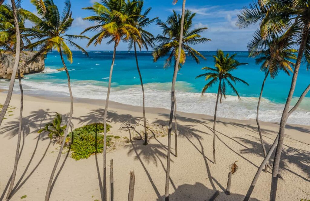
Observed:
[[[290,111],[288,112],[288,116],[290,116],[300,105],[300,103],[302,102],[303,98],[307,95],[307,93],[309,92],[310,90],[310,84],[308,85],[308,87],[305,89],[305,91],[302,93],[302,95],[299,97],[297,103],[294,105],[294,107],[292,109],[290,109]],[[260,172],[263,170],[263,167],[268,163],[268,160],[270,158],[270,156],[272,155],[274,149],[276,148],[277,146],[277,143],[278,143],[278,140],[279,140],[279,133],[277,135],[277,138],[275,139],[275,141],[273,142],[272,146],[270,147],[266,157],[264,158],[263,162],[260,164],[254,178],[253,178],[253,181],[250,185],[250,188],[248,189],[248,192],[246,193],[246,196],[245,198],[243,199],[243,201],[248,201],[250,199],[250,196],[254,190],[254,187],[255,187],[255,184],[259,178],[259,175],[260,175]]]

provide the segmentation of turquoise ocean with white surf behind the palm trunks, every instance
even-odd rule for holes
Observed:
[[[80,51],[73,51],[73,63],[66,61],[73,96],[104,100],[113,51],[88,51],[88,53],[89,57]],[[236,59],[239,62],[248,63],[232,74],[245,80],[250,86],[241,83],[235,85],[241,100],[238,100],[231,89],[228,89],[228,96],[222,104],[219,104],[217,115],[234,119],[255,119],[264,73],[260,71],[259,65],[255,64],[255,59],[248,57],[248,52],[226,51],[225,53],[236,53]],[[201,51],[201,54],[206,57],[206,60],[201,60],[200,64],[196,64],[188,57],[185,65],[179,70],[176,83],[178,111],[214,115],[218,85],[210,88],[204,96],[201,96],[201,90],[206,81],[203,78],[196,79],[196,76],[205,73],[201,70],[202,67],[214,67],[212,56],[215,55],[215,51]],[[146,107],[170,109],[173,66],[164,69],[164,59],[154,63],[151,51],[139,52],[138,59],[144,82]],[[33,96],[69,96],[66,73],[56,70],[61,67],[59,53],[57,51],[49,53],[45,60],[45,70],[42,73],[25,75],[22,80],[24,93]],[[292,76],[280,72],[276,79],[267,79],[260,106],[260,120],[280,121],[291,78]],[[306,65],[302,65],[292,104],[296,103],[310,83],[309,80],[310,71],[306,70]],[[0,88],[7,89],[8,82],[0,80]],[[19,93],[17,84],[14,92]],[[110,100],[135,106],[142,105],[142,92],[133,51],[116,52]],[[299,109],[290,116],[288,123],[310,125],[310,94],[305,97]]]

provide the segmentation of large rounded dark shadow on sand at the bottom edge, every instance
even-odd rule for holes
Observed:
[[[171,201],[205,201],[209,200],[216,190],[208,189],[205,185],[196,182],[194,185],[183,184],[180,185],[174,193],[169,195]],[[157,201],[164,200],[165,196],[161,196]],[[230,194],[226,195],[224,192],[220,192],[216,200],[243,200],[244,195],[241,194]],[[250,198],[250,201],[259,201],[255,198]]]

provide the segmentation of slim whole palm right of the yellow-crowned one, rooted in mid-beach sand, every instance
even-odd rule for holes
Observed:
[[[143,87],[143,82],[142,82],[142,76],[140,73],[140,69],[139,69],[139,63],[138,63],[138,57],[137,57],[137,50],[136,50],[136,46],[139,47],[139,49],[141,50],[142,47],[144,47],[146,50],[148,50],[148,46],[149,47],[153,47],[154,46],[154,42],[153,42],[153,34],[149,33],[148,31],[144,30],[145,27],[147,27],[148,25],[152,24],[156,19],[149,19],[147,16],[149,14],[149,12],[151,11],[151,8],[146,9],[146,11],[144,13],[142,13],[142,9],[143,9],[143,1],[139,1],[139,0],[133,0],[132,2],[128,3],[128,13],[135,15],[134,18],[132,18],[132,22],[131,25],[133,27],[135,27],[136,29],[139,30],[140,36],[139,35],[132,35],[131,39],[129,40],[129,50],[131,50],[132,47],[134,47],[135,50],[135,60],[136,60],[136,64],[137,64],[137,70],[139,73],[139,77],[140,77],[140,82],[141,82],[141,88],[142,88],[142,109],[143,109],[143,120],[144,120],[144,145],[148,144],[148,135],[147,135],[147,131],[146,131],[146,118],[145,118],[145,101],[144,101],[144,87]]]

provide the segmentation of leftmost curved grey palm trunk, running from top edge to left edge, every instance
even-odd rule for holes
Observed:
[[[16,53],[15,53],[15,61],[14,61],[12,76],[11,76],[11,80],[10,80],[10,85],[9,85],[9,89],[7,91],[7,98],[5,99],[5,102],[3,104],[3,107],[2,107],[2,110],[0,113],[0,126],[1,126],[4,115],[7,112],[7,108],[9,107],[9,104],[11,101],[14,83],[15,83],[15,77],[16,77],[18,66],[19,66],[19,60],[20,60],[20,29],[19,29],[19,25],[18,25],[15,0],[11,0],[11,3],[12,3],[15,31],[16,31]]]

